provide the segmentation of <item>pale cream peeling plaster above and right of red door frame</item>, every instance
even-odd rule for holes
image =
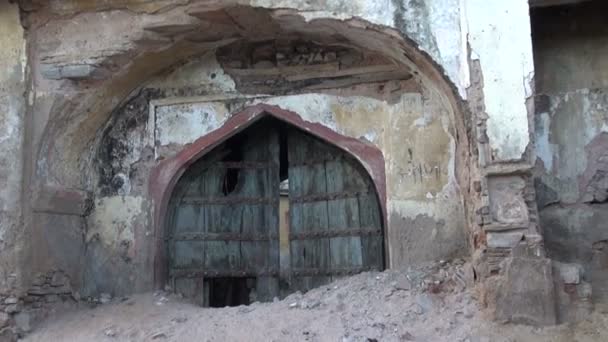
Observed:
[[[455,179],[455,141],[449,111],[433,92],[402,94],[395,103],[365,96],[338,96],[321,93],[286,96],[241,98],[244,102],[235,108],[269,104],[296,112],[306,121],[319,123],[332,130],[365,140],[380,148],[385,156],[387,170],[387,196],[390,206],[388,234],[408,234],[402,231],[400,220],[416,221],[426,215],[435,222],[449,222],[436,227],[441,231],[419,232],[425,244],[433,245],[440,239],[441,249],[454,255],[466,251],[462,199]],[[171,117],[158,120],[157,143],[186,145],[198,136],[204,136],[218,127],[230,115],[225,103],[238,99],[228,96],[163,99],[157,114]],[[174,103],[172,103],[174,102]],[[209,126],[200,124],[203,108],[208,111]],[[173,119],[183,117],[179,122]],[[370,125],[370,122],[374,122]],[[183,125],[195,127],[192,132]],[[175,127],[171,127],[175,126]],[[179,128],[179,129],[178,129]],[[185,132],[185,134],[178,134]],[[161,150],[159,150],[161,151]],[[170,158],[174,150],[162,150],[159,157]],[[391,222],[392,217],[398,217]],[[416,221],[418,222],[418,221]],[[420,227],[419,227],[420,228]],[[393,233],[391,233],[393,232]],[[428,235],[430,234],[430,235]],[[439,240],[437,240],[439,241]],[[389,249],[406,248],[401,241],[389,244]],[[407,246],[410,254],[392,258],[391,265],[403,265],[412,260],[428,260],[437,253],[416,252],[416,246]],[[403,253],[390,254],[394,256]],[[406,253],[407,254],[407,253]],[[442,254],[443,256],[444,254]],[[446,254],[447,256],[447,254]]]

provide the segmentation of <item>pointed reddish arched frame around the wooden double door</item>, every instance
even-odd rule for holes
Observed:
[[[169,199],[173,189],[184,171],[213,150],[215,147],[249,127],[257,120],[270,116],[280,121],[300,128],[309,134],[334,145],[361,163],[370,176],[378,195],[382,214],[382,229],[384,236],[384,264],[389,265],[388,241],[386,233],[386,174],[384,156],[382,151],[361,140],[339,134],[320,123],[305,121],[295,112],[281,109],[278,106],[257,104],[231,115],[231,117],[218,129],[200,137],[193,143],[185,146],[173,157],[160,161],[153,169],[149,180],[149,195],[153,202],[153,237],[150,244],[153,255],[154,285],[162,288],[167,279],[167,255],[165,250],[165,225]]]

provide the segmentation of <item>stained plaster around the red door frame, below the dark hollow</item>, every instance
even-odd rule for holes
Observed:
[[[193,88],[207,91],[188,96]],[[151,100],[149,94],[157,98]],[[135,278],[153,257],[142,248],[153,238],[146,222],[152,208],[142,201],[150,201],[147,185],[155,163],[258,103],[295,112],[383,152],[391,267],[466,254],[451,109],[424,88],[390,101],[378,98],[383,95],[376,84],[284,96],[241,94],[213,52],[151,80],[116,112],[101,137],[96,159],[101,179],[88,223],[84,293],[123,293],[141,283]]]

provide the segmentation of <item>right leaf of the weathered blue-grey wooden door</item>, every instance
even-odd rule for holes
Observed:
[[[288,135],[288,158],[292,287],[382,270],[382,215],[361,165],[297,129]]]

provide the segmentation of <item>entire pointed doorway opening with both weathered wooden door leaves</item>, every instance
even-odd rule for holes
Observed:
[[[190,165],[166,222],[168,280],[204,306],[271,300],[384,268],[382,210],[366,170],[273,117]]]

